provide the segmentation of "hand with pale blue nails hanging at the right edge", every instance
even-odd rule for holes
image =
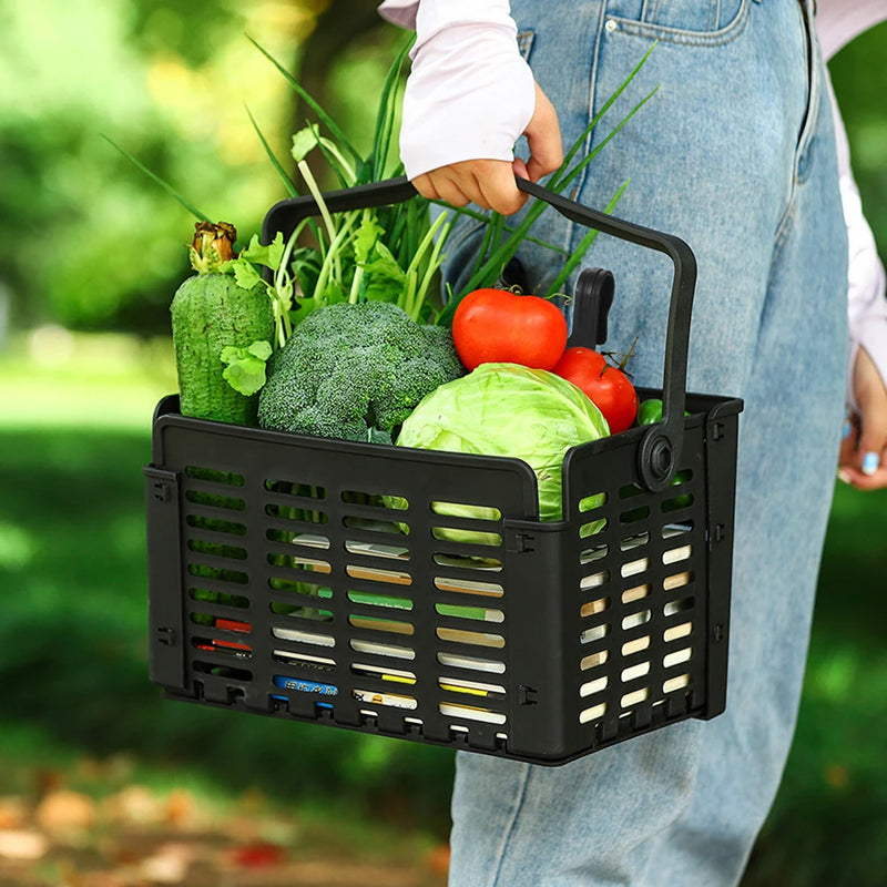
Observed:
[[[853,371],[859,415],[848,419],[838,458],[838,477],[860,490],[887,487],[887,387],[865,348]]]

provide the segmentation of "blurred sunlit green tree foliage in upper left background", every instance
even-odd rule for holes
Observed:
[[[286,160],[296,102],[246,34],[296,70],[334,7],[375,16],[366,0],[4,4],[0,300],[12,324],[167,332],[194,220],[102,135],[248,239],[285,192],[245,105]],[[379,20],[377,51],[358,48],[371,106],[395,31]]]

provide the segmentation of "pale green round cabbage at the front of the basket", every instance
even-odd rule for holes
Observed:
[[[606,419],[575,385],[544,369],[519,364],[481,364],[467,376],[427,395],[407,417],[397,438],[417,447],[523,459],[539,482],[539,517],[560,520],[561,475],[567,450],[606,437]],[[447,506],[438,513],[496,519],[492,508]],[[460,530],[453,541],[488,541]]]

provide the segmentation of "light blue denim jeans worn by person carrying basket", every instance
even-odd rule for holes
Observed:
[[[807,0],[810,2],[810,0]],[[512,0],[522,45],[570,144],[659,40],[597,144],[577,198],[677,234],[699,283],[687,388],[745,401],[727,710],[563,767],[459,753],[451,887],[734,885],[794,732],[834,489],[846,368],[847,245],[822,61],[798,0]],[[810,54],[808,54],[810,53]],[[537,235],[583,234],[553,211]],[[453,273],[475,241],[468,235]],[[522,254],[533,285],[552,254]],[[671,266],[599,237],[613,271],[608,350],[661,385]]]

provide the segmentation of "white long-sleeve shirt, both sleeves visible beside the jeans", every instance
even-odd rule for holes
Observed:
[[[465,160],[510,161],[532,116],[536,94],[518,51],[509,0],[385,0],[379,13],[416,31],[400,136],[407,175],[415,179]],[[825,59],[885,20],[887,0],[818,0],[816,28]],[[850,368],[864,347],[887,383],[885,272],[863,214],[830,84],[829,93],[849,238]],[[848,402],[856,406],[852,384]]]

